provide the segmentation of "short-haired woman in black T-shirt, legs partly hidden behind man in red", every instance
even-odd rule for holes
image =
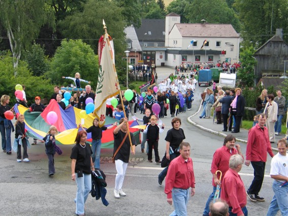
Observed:
[[[166,159],[172,161],[180,155],[179,146],[181,142],[185,139],[185,134],[181,126],[181,119],[175,117],[171,121],[172,129],[167,132],[166,135]],[[161,185],[164,178],[167,175],[168,167],[165,167],[164,170],[158,175],[158,183]]]

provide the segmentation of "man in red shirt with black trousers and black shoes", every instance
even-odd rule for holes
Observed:
[[[267,161],[267,152],[273,158],[271,143],[269,139],[268,129],[265,127],[266,115],[261,113],[258,115],[258,124],[251,128],[248,132],[248,141],[246,147],[246,162],[249,166],[250,162],[254,169],[254,179],[247,190],[247,196],[252,202],[264,202],[265,199],[259,196],[264,179],[265,165]]]

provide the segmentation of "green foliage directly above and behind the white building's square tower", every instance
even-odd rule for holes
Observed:
[[[181,23],[188,23],[188,17],[184,10],[192,2],[193,0],[174,0],[167,6],[167,13],[176,13],[181,17]]]

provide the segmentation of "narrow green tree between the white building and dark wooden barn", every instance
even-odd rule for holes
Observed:
[[[241,68],[238,69],[237,79],[240,79],[248,87],[254,85],[254,66],[256,64],[255,58],[253,58],[254,53],[255,50],[252,46],[240,52]]]

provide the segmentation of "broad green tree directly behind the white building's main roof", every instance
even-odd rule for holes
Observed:
[[[201,23],[205,19],[208,23],[232,24],[236,32],[240,32],[239,19],[225,0],[194,0],[184,13],[190,23]]]

